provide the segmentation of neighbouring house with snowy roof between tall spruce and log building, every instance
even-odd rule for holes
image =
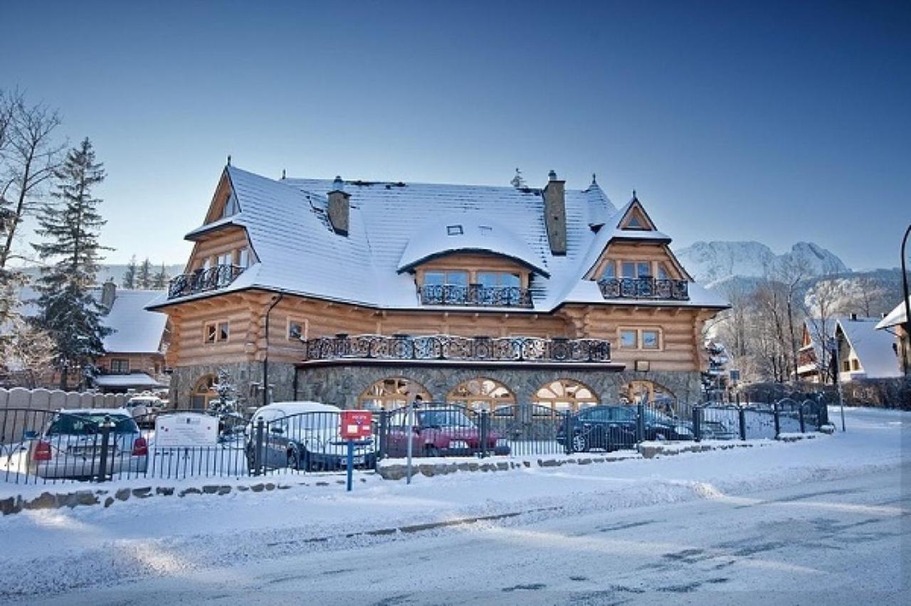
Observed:
[[[95,386],[104,392],[167,387],[165,351],[168,316],[148,311],[146,306],[160,290],[118,290],[113,282],[102,287],[103,318],[114,332],[105,337],[105,355],[96,360],[101,374]]]

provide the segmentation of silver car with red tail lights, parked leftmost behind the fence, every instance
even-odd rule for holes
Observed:
[[[26,432],[23,461],[41,478],[94,478],[101,472],[102,428],[109,419],[106,473],[144,473],[148,442],[127,409],[58,410],[40,433]]]

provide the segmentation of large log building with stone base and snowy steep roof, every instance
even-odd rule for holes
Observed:
[[[186,237],[186,273],[148,307],[170,318],[180,408],[215,398],[219,369],[249,404],[264,383],[348,408],[692,401],[703,324],[729,307],[635,194],[618,210],[553,172],[536,188],[229,166]]]

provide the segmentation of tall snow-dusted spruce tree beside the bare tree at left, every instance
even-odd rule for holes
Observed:
[[[91,367],[104,353],[102,339],[111,332],[101,325],[104,308],[92,295],[99,252],[110,248],[98,242],[105,221],[97,211],[101,200],[92,197],[91,190],[104,180],[105,171],[95,161],[88,138],[69,151],[55,177],[56,203],[46,204],[38,214],[36,234],[46,241],[32,245],[39,258],[54,261],[42,268],[37,281],[40,311],[35,321],[54,340],[60,387],[66,389],[71,369]]]

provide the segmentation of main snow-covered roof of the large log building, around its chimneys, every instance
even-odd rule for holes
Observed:
[[[230,223],[246,227],[259,262],[218,292],[264,288],[377,308],[421,308],[414,278],[403,269],[448,251],[449,236],[436,234],[459,220],[464,233],[458,249],[486,250],[534,268],[534,305],[527,311],[550,311],[568,302],[605,303],[598,285],[584,278],[612,237],[670,241],[655,231],[617,234],[617,208],[594,182],[586,189],[566,190],[565,255],[551,253],[543,191],[531,187],[346,181],[350,217],[345,237],[334,232],[328,217],[327,194],[336,187],[333,180],[275,180],[237,167],[225,171],[240,206]],[[486,245],[482,226],[501,236],[496,244]],[[694,286],[691,300],[661,305],[727,307],[721,298]],[[160,297],[153,307],[211,294],[172,301]]]

